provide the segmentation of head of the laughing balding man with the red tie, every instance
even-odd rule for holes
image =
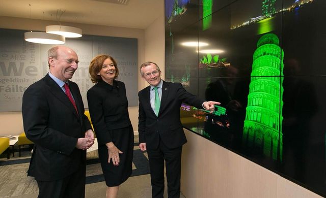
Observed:
[[[60,46],[57,58],[48,58],[50,72],[53,76],[66,82],[72,78],[78,68],[78,56],[72,49]]]

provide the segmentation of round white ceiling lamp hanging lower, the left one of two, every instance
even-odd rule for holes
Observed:
[[[28,31],[24,34],[25,41],[40,44],[65,44],[66,38],[61,35],[47,34],[40,31]]]

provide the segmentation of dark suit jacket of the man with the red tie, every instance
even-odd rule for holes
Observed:
[[[22,116],[26,137],[35,143],[28,175],[62,179],[86,166],[86,150],[75,148],[91,124],[76,83],[69,81],[78,114],[61,87],[47,74],[25,90]]]

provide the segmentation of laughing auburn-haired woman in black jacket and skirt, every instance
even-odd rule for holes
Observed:
[[[132,172],[133,129],[128,114],[125,84],[115,80],[117,62],[98,55],[90,63],[88,108],[98,141],[98,154],[106,183],[106,197],[117,197],[119,185]]]

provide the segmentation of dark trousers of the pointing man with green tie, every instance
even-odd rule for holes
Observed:
[[[147,148],[153,198],[162,198],[164,194],[164,160],[167,169],[168,196],[180,197],[181,152],[182,146],[169,149],[162,141],[159,142],[157,149]]]

